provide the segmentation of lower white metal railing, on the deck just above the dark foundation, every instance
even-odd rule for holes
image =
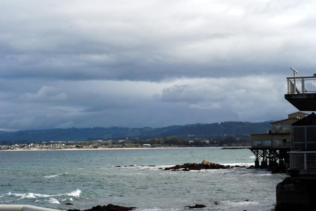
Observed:
[[[290,168],[316,168],[316,151],[290,151]]]

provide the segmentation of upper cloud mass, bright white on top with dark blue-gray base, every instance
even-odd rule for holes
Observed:
[[[311,9],[301,13],[314,7],[295,1],[3,2],[0,71],[6,78],[145,81],[287,73],[289,63],[315,65],[315,50],[307,48],[315,43],[308,22],[315,16]]]

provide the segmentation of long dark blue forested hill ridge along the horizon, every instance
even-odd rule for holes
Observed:
[[[190,137],[216,137],[239,136],[250,133],[267,132],[271,128],[270,121],[265,122],[221,122],[212,124],[174,125],[160,128],[129,128],[129,127],[93,127],[93,128],[67,128],[25,130],[17,132],[0,133],[0,143],[16,141],[78,141],[83,139],[106,138],[122,139],[125,137],[138,137],[149,139],[155,137],[180,136]]]

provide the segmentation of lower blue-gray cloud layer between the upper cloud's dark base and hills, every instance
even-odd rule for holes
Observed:
[[[278,75],[175,79],[168,82],[11,80],[4,91],[0,128],[93,126],[160,127],[227,120],[284,118],[286,79]],[[55,86],[52,86],[55,85]],[[62,96],[62,97],[59,97]],[[283,114],[280,116],[280,114]]]

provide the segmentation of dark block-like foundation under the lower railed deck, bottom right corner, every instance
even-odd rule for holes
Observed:
[[[314,210],[316,179],[286,178],[276,185],[276,211]]]

